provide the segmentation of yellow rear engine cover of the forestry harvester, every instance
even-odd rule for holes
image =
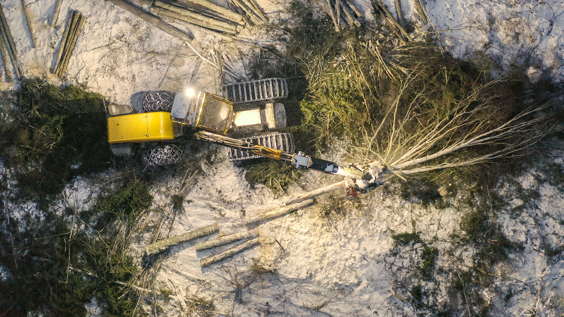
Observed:
[[[170,112],[134,113],[108,117],[108,142],[143,143],[174,139]]]

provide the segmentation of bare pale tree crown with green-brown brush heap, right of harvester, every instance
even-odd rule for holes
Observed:
[[[554,102],[526,103],[521,81],[490,80],[431,46],[361,38],[302,62],[301,108],[318,146],[342,135],[352,157],[401,176],[522,155],[551,128]]]

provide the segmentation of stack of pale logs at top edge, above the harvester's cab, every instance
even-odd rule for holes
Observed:
[[[232,0],[237,12],[215,5],[208,0],[191,0],[191,5],[156,0],[153,11],[160,17],[187,27],[205,28],[222,36],[239,34],[246,24],[267,21],[267,17],[254,0]]]

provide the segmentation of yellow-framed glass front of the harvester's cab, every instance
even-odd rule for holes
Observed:
[[[211,94],[206,94],[198,126],[226,134],[231,127],[232,121],[233,110],[231,103],[226,103]]]

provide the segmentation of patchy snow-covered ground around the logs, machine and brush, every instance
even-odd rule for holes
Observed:
[[[24,76],[45,76],[54,66],[67,10],[79,10],[87,18],[70,59],[65,82],[86,83],[118,104],[139,105],[139,95],[149,90],[173,90],[184,85],[216,92],[221,84],[217,68],[202,61],[185,43],[153,27],[138,17],[103,0],[62,0],[59,22],[49,26],[55,0],[28,0],[36,49],[31,47],[28,29],[19,0],[3,0],[2,7],[14,35]],[[257,0],[271,17],[271,23],[284,21],[282,1]],[[383,1],[391,11],[393,1]],[[218,2],[221,4],[221,2]],[[356,0],[371,20],[371,2]],[[412,1],[403,1],[404,15],[416,25],[417,33],[438,32],[442,45],[458,57],[481,51],[501,65],[518,63],[532,66],[539,73],[561,81],[563,68],[564,3],[562,1],[463,1],[429,0],[426,11],[432,25],[423,26]],[[183,27],[179,27],[184,29]],[[276,28],[268,31],[248,29],[243,37],[265,44],[278,43]],[[252,46],[223,42],[212,34],[193,30],[201,54],[215,63],[224,63],[241,79],[248,78],[244,65],[258,52]],[[474,55],[472,55],[474,56]],[[17,83],[0,83],[0,89]],[[328,157],[341,160],[340,157]],[[554,154],[562,169],[562,155]],[[170,235],[218,223],[221,234],[243,230],[241,215],[252,215],[281,204],[265,187],[250,188],[244,170],[222,157],[201,162],[205,172],[184,200],[184,212],[175,219]],[[510,254],[509,261],[493,268],[492,287],[482,297],[491,301],[490,315],[562,316],[564,314],[564,257],[548,258],[547,246],[564,245],[564,192],[562,188],[539,183],[532,177],[542,166],[521,180],[524,187],[539,188],[534,204],[515,197],[515,207],[525,204],[520,213],[511,208],[497,210],[496,219],[510,241],[522,250]],[[550,175],[545,175],[549,177]],[[337,182],[337,177],[307,174],[299,186],[302,192]],[[179,186],[170,180],[170,188]],[[83,204],[89,191],[87,182],[77,180],[67,188],[67,197]],[[80,185],[80,186],[79,186]],[[503,186],[500,190],[504,190]],[[508,189],[505,189],[508,190]],[[510,189],[509,189],[510,190]],[[155,204],[170,201],[166,191],[155,188]],[[255,246],[235,257],[200,267],[200,259],[211,252],[196,252],[194,242],[175,246],[162,259],[156,282],[178,296],[213,299],[214,311],[232,316],[415,316],[412,288],[434,290],[429,304],[439,307],[461,305],[461,294],[448,292],[451,281],[438,284],[409,280],[420,266],[420,257],[411,249],[394,250],[391,235],[421,232],[421,240],[439,249],[437,267],[464,270],[471,263],[472,249],[457,250],[452,258],[452,234],[460,232],[465,210],[456,204],[445,209],[424,207],[404,201],[392,191],[364,195],[359,204],[345,202],[340,212],[327,213],[331,197],[297,213],[261,224],[261,235],[271,243]],[[325,206],[325,207],[324,207]],[[28,206],[29,207],[29,206]],[[325,209],[324,209],[325,208]],[[26,210],[12,210],[12,213]],[[147,232],[147,238],[151,232]],[[135,246],[138,258],[144,244]],[[409,250],[408,250],[409,249]],[[217,251],[214,251],[217,252]],[[410,253],[411,252],[411,253]],[[266,272],[262,272],[265,271]],[[457,271],[454,271],[456,274]],[[409,284],[411,283],[411,284]],[[409,287],[408,287],[409,285]],[[89,304],[96,312],[96,300]],[[164,307],[169,316],[182,306],[175,300]],[[192,315],[196,315],[195,312]]]

